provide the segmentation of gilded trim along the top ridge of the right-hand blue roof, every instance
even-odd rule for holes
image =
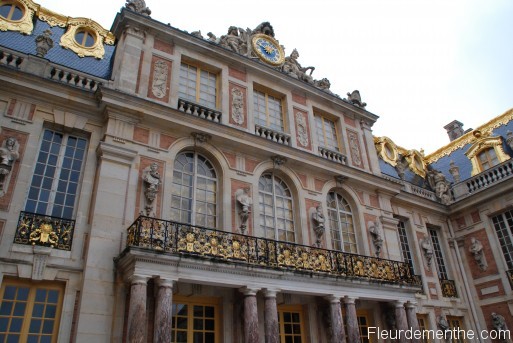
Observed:
[[[501,114],[500,116],[479,126],[474,131],[479,130],[479,131],[481,131],[481,133],[483,135],[490,135],[493,129],[498,128],[502,125],[506,125],[511,120],[513,120],[513,109],[510,109],[510,110],[506,111],[505,113]],[[448,145],[429,154],[428,156],[426,156],[426,163],[431,164],[433,162],[436,162],[440,158],[442,158],[444,156],[448,156],[451,152],[453,152],[469,143],[475,142],[477,140],[477,138],[473,135],[474,131],[464,134],[463,136],[461,136],[458,139],[455,139]]]

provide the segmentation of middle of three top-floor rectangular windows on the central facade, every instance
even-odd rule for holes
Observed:
[[[253,94],[255,124],[283,132],[282,100],[270,94],[255,90]]]

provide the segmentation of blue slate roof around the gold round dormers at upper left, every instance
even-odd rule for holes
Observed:
[[[52,31],[51,38],[54,45],[45,55],[45,59],[91,76],[110,79],[114,52],[116,50],[115,45],[104,44],[105,55],[103,59],[79,57],[75,52],[62,48],[59,45],[61,36],[66,32],[65,28],[58,26],[51,27],[48,23],[39,19],[35,20],[34,30],[30,35],[24,35],[15,31],[0,31],[0,45],[21,53],[36,55],[35,39],[46,29]]]

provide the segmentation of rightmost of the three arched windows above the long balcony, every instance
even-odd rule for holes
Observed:
[[[356,235],[351,207],[346,199],[336,192],[329,192],[326,202],[332,248],[356,253]]]

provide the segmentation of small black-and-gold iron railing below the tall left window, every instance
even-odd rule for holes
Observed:
[[[74,220],[22,211],[14,243],[70,251],[74,231]]]

